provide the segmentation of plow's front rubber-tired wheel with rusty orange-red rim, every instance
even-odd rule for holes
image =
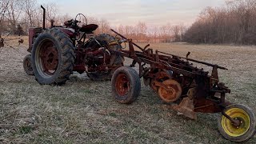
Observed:
[[[134,102],[141,91],[140,78],[131,67],[122,66],[115,70],[111,84],[114,98],[124,104]]]

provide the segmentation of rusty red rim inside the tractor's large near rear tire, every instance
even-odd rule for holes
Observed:
[[[38,73],[44,78],[50,78],[58,68],[58,50],[54,42],[45,40],[40,43],[35,54],[35,64]]]

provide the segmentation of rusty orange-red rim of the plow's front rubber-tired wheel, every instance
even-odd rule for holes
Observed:
[[[130,82],[126,74],[118,74],[117,80],[115,82],[115,88],[118,92],[118,95],[124,97],[128,94],[130,90]]]

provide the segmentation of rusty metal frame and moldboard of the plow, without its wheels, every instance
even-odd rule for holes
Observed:
[[[183,81],[186,81],[186,86],[181,82],[182,96],[180,99],[182,99],[182,102],[179,105],[172,106],[174,110],[189,118],[196,119],[196,112],[218,113],[230,105],[230,102],[225,99],[226,93],[230,93],[230,89],[218,80],[218,69],[227,70],[225,67],[188,58],[190,52],[186,54],[186,58],[183,58],[159,50],[148,49],[150,45],[142,48],[132,42],[132,39],[128,39],[114,30],[112,31],[129,43],[129,50],[112,51],[112,53],[118,53],[123,57],[133,59],[130,67],[134,67],[138,63],[139,77],[144,79],[146,86],[154,81],[152,82],[154,86],[168,90],[168,87],[163,85],[161,80],[158,81],[159,78],[165,77],[166,71],[170,71],[172,74],[172,76],[169,75],[169,78],[176,80],[180,77],[183,78]],[[134,46],[140,51],[135,50]],[[193,63],[190,62],[211,66],[211,74],[193,66]],[[154,70],[158,72],[154,72]],[[159,70],[163,72],[161,73]],[[229,119],[234,121],[232,118]]]

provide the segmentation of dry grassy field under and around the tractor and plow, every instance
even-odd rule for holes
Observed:
[[[226,66],[219,74],[231,89],[227,99],[256,110],[256,46],[151,47]],[[115,102],[110,82],[91,82],[86,74],[73,74],[64,86],[40,86],[22,68],[26,49],[0,48],[0,143],[230,143],[218,132],[219,114],[184,118],[143,84],[131,105]]]

